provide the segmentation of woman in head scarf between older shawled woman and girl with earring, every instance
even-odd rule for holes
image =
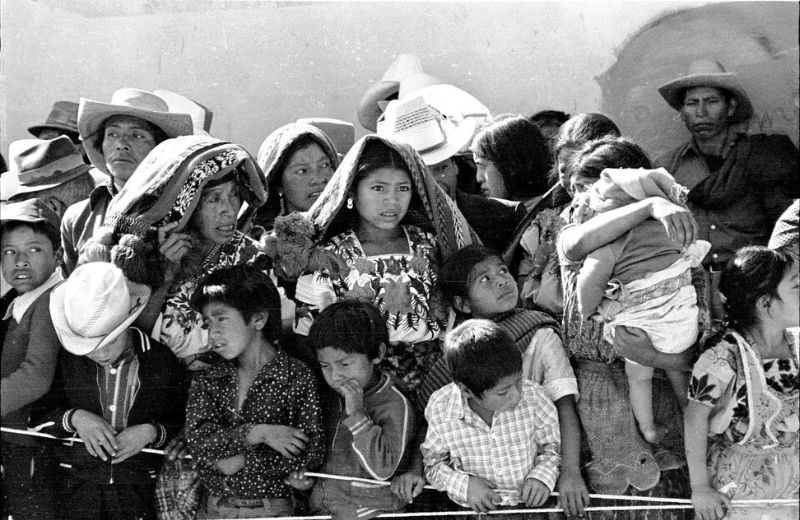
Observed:
[[[271,231],[275,218],[307,211],[339,166],[336,148],[322,130],[305,123],[289,123],[264,139],[258,150],[264,171],[267,202],[254,224]]]

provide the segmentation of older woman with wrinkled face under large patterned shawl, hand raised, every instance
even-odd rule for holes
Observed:
[[[190,368],[208,338],[189,299],[220,266],[267,261],[244,234],[265,200],[261,171],[244,148],[184,136],[157,146],[109,207],[115,234],[158,241],[167,267],[139,323]]]

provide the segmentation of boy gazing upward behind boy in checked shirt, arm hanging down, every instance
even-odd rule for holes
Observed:
[[[589,491],[580,471],[580,422],[575,406],[578,383],[564,352],[558,323],[545,312],[517,306],[517,284],[505,263],[490,249],[475,245],[461,248],[445,260],[442,275],[442,292],[459,319],[497,323],[522,353],[523,378],[542,385],[555,403],[563,454],[559,503],[569,516],[583,514],[583,508],[589,505]],[[427,399],[426,395],[450,381],[442,358],[420,386],[420,399]]]

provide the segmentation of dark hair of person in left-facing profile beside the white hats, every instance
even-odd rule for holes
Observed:
[[[547,190],[550,152],[539,127],[524,116],[495,121],[475,137],[472,149],[494,163],[509,197],[529,199]]]

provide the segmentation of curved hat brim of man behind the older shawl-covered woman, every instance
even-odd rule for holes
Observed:
[[[80,131],[81,139],[85,143],[84,151],[95,168],[109,175],[111,172],[106,168],[105,158],[95,148],[95,143],[100,137],[98,135],[100,125],[111,116],[131,116],[144,119],[159,127],[167,137],[191,135],[194,131],[192,118],[189,114],[144,110],[137,107],[113,105],[81,98],[81,104],[78,109],[78,130]]]

